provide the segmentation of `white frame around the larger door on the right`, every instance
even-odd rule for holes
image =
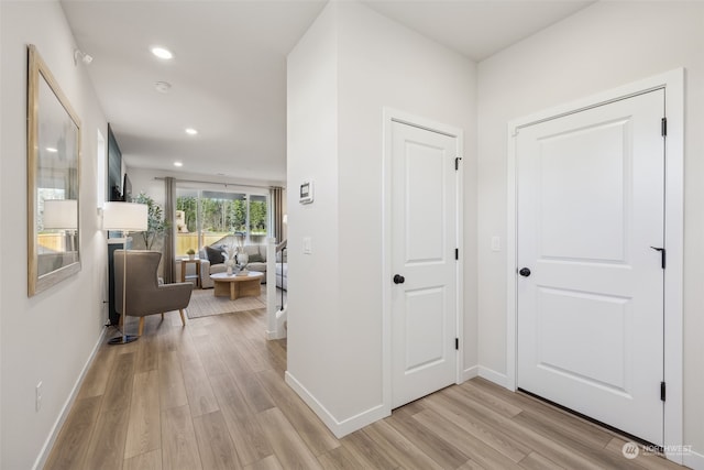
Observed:
[[[591,97],[539,111],[508,122],[507,221],[506,221],[506,384],[517,387],[517,165],[516,139],[521,128],[537,124],[654,89],[666,90],[668,118],[666,152],[664,238],[668,267],[664,273],[664,402],[663,444],[668,459],[682,463],[676,446],[683,442],[683,265],[684,265],[684,68],[634,81]],[[653,390],[653,393],[657,393]],[[674,451],[668,451],[673,449]],[[681,453],[681,452],[680,452]]]

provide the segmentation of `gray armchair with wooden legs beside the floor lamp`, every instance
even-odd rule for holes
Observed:
[[[144,317],[178,310],[180,321],[186,326],[184,308],[188,307],[193,284],[174,283],[160,285],[157,277],[158,263],[162,253],[148,250],[129,250],[127,259],[127,313],[131,317],[140,317],[139,336],[144,331]],[[114,251],[114,296],[116,310],[121,315],[122,277],[124,266],[124,250]]]

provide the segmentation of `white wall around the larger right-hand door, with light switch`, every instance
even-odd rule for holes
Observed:
[[[492,236],[506,240],[507,121],[686,68],[682,444],[698,453],[704,453],[703,18],[701,2],[598,2],[479,65],[479,360],[496,378],[506,373],[506,256],[492,252],[490,241]]]

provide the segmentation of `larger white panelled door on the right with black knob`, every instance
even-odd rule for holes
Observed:
[[[663,440],[664,90],[520,129],[518,386]]]

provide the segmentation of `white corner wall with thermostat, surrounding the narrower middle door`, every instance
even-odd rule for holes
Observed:
[[[289,192],[288,373],[338,434],[383,405],[384,107],[464,131],[464,363],[476,364],[475,83],[473,63],[356,2],[328,4],[289,55],[288,185],[312,177],[316,201]]]

